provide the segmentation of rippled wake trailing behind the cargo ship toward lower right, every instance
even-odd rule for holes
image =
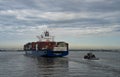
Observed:
[[[105,72],[110,72],[112,74],[117,74],[119,75],[120,73],[120,68],[113,67],[107,64],[103,64],[102,61],[100,60],[86,60],[86,59],[70,59],[70,61],[78,63],[78,64],[83,64],[88,66],[88,68],[91,68],[91,70],[101,70]]]

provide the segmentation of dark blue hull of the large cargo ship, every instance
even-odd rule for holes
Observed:
[[[25,54],[28,56],[36,56],[36,57],[63,57],[68,55],[68,51],[25,51]]]

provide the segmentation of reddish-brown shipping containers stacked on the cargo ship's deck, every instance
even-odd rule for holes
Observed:
[[[24,50],[53,50],[55,47],[66,47],[68,50],[68,43],[65,42],[31,42],[24,45]]]

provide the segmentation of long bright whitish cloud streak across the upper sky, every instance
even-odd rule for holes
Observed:
[[[99,13],[99,12],[40,12],[38,10],[4,10],[0,11],[0,15],[14,16],[18,20],[26,21],[49,21],[49,22],[96,22],[101,19],[103,21],[115,21],[120,12]],[[91,21],[94,19],[94,21]],[[88,21],[89,20],[89,21]],[[103,22],[104,23],[104,22]]]

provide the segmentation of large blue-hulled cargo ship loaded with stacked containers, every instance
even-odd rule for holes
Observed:
[[[64,41],[55,42],[54,36],[48,31],[37,36],[39,41],[29,42],[24,45],[26,55],[44,56],[44,57],[63,57],[69,54],[68,43]]]

